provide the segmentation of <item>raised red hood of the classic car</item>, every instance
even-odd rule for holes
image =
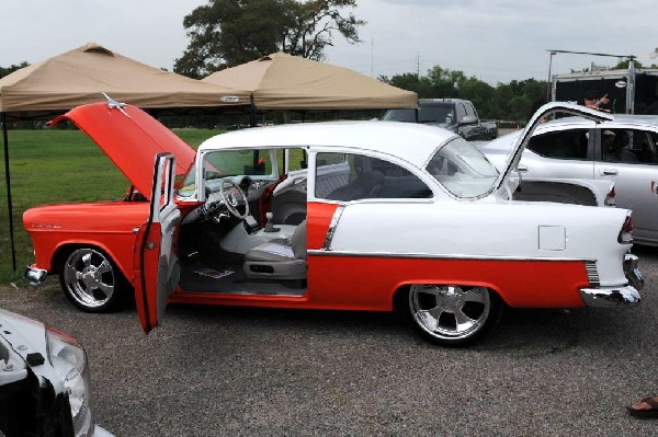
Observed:
[[[185,141],[138,107],[112,100],[72,108],[49,123],[69,119],[107,154],[145,196],[150,196],[156,154],[175,156],[177,175],[184,174],[196,152]]]

